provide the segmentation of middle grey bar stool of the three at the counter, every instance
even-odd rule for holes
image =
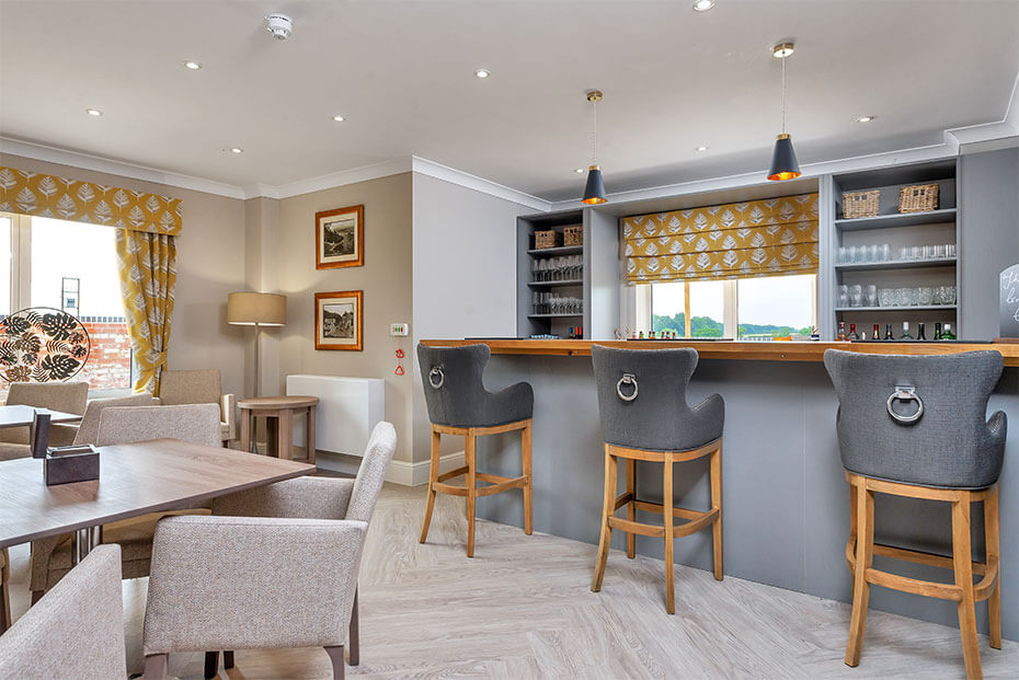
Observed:
[[[722,426],[725,403],[712,394],[690,408],[686,387],[697,367],[694,349],[591,348],[605,441],[602,540],[591,589],[598,592],[612,529],[627,533],[627,557],[637,556],[636,534],[665,539],[665,610],[676,613],[673,539],[711,527],[714,578],[722,580]],[[711,509],[673,507],[673,463],[710,456]],[[616,495],[618,459],[626,460],[626,491]],[[637,461],[663,463],[662,503],[637,497]],[[616,517],[626,506],[627,518]],[[664,527],[637,521],[637,510],[663,516]],[[685,519],[676,525],[675,519]]]

